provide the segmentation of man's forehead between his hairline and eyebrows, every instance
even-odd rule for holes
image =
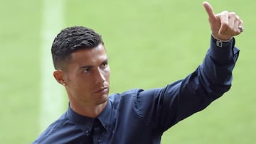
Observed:
[[[93,62],[105,60],[107,60],[107,52],[102,44],[95,48],[77,50],[70,55],[70,63],[76,63],[77,65],[91,65]]]

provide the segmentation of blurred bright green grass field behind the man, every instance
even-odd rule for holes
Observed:
[[[202,62],[210,41],[202,2],[66,0],[62,17],[56,16],[51,23],[62,19],[61,28],[87,26],[102,34],[112,70],[111,93],[150,89],[182,79]],[[256,141],[256,1],[209,2],[215,12],[235,11],[245,23],[245,32],[236,38],[241,52],[233,71],[233,87],[204,111],[166,131],[164,144]],[[53,71],[51,63],[47,70],[41,68],[42,28],[46,27],[43,4],[43,0],[1,0],[0,143],[31,143],[42,131],[42,73]],[[49,16],[54,17],[55,12],[58,9]],[[54,30],[58,33],[60,28]],[[48,52],[50,55],[50,45]],[[48,124],[68,106],[64,89],[63,98],[53,99],[51,104],[55,103],[62,103],[63,108]]]

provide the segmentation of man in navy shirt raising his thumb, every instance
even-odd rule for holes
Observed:
[[[210,4],[203,6],[212,31],[203,63],[159,89],[108,96],[110,67],[101,36],[81,26],[61,31],[52,46],[53,75],[65,87],[69,107],[33,143],[160,143],[164,131],[227,92],[239,53],[233,36],[243,23],[235,13],[215,15]]]

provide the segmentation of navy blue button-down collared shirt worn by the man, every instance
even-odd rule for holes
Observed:
[[[230,89],[239,53],[234,44],[235,39],[221,43],[211,38],[203,63],[186,78],[163,88],[112,94],[97,118],[69,106],[33,143],[160,143],[164,131]]]

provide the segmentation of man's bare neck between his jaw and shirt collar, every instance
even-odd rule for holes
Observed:
[[[79,113],[82,116],[87,116],[90,118],[96,118],[107,106],[107,101],[105,103],[99,104],[97,106],[82,106],[81,104],[74,104],[70,101],[70,108],[73,109],[76,113]]]

